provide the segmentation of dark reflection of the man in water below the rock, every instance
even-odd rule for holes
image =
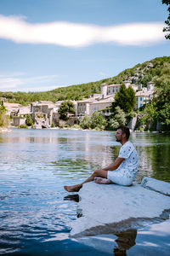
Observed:
[[[116,239],[117,247],[114,248],[114,255],[127,255],[127,250],[135,245],[137,230],[117,232],[115,235],[118,236],[118,238]]]

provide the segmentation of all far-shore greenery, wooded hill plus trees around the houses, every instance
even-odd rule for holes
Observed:
[[[152,67],[148,65],[152,63]],[[134,79],[135,78],[135,79]],[[136,79],[137,78],[137,79]],[[160,57],[151,61],[145,61],[133,68],[124,70],[116,77],[103,79],[94,83],[78,84],[62,87],[46,92],[0,92],[0,97],[6,97],[8,102],[18,102],[26,105],[36,101],[64,101],[59,108],[60,119],[68,119],[69,113],[74,114],[75,108],[71,100],[82,100],[94,93],[100,93],[100,85],[122,84],[121,89],[115,96],[115,102],[111,106],[111,116],[104,117],[100,113],[94,113],[92,117],[85,115],[79,123],[82,129],[116,130],[118,125],[127,125],[134,113],[136,105],[135,93],[132,88],[126,88],[123,81],[132,79],[133,83],[147,85],[153,81],[156,84],[156,93],[153,101],[139,108],[137,112],[141,115],[139,130],[156,130],[156,124],[161,124],[162,131],[170,130],[170,57]],[[1,104],[0,119],[5,115],[4,106]],[[3,120],[3,124],[4,124]],[[30,117],[26,119],[27,125],[32,125]],[[1,123],[2,124],[2,123]],[[0,124],[0,125],[1,125]]]

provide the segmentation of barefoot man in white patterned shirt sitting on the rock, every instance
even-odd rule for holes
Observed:
[[[138,154],[133,147],[133,143],[128,141],[130,131],[126,126],[120,126],[116,131],[116,142],[122,144],[117,159],[103,169],[96,170],[83,183],[73,186],[65,186],[68,192],[77,192],[84,183],[94,181],[96,183],[116,183],[123,186],[129,186],[138,172]],[[114,171],[114,172],[113,172]]]

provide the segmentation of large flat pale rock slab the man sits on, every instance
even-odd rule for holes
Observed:
[[[169,218],[170,197],[139,184],[123,187],[85,183],[80,197],[78,212],[81,210],[82,217],[71,224],[71,236],[96,235],[101,233],[99,230],[107,230],[108,224],[116,232]]]

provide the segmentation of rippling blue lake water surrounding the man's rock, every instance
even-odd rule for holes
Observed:
[[[170,182],[170,137],[133,133],[130,140],[139,153],[135,183],[145,176]],[[169,220],[130,230],[130,235],[69,237],[77,202],[65,200],[63,186],[110,164],[119,149],[110,131],[14,129],[0,134],[0,254],[170,255]],[[124,241],[133,237],[133,242],[124,247],[119,236]]]

